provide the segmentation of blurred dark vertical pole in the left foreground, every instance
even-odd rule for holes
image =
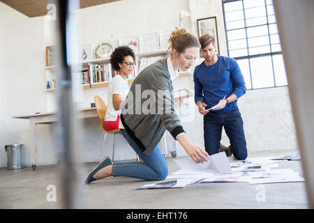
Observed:
[[[78,0],[59,0],[57,2],[57,141],[60,160],[59,190],[61,208],[75,208],[77,201],[77,178],[75,168],[75,122],[77,121],[73,103],[73,75],[75,66],[76,42],[73,30],[77,28],[73,11],[80,6]]]

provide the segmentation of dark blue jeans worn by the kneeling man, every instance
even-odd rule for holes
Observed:
[[[223,128],[225,128],[225,133],[230,140],[234,157],[238,160],[245,160],[248,151],[246,149],[243,120],[238,108],[231,112],[209,112],[204,115],[204,144],[207,153],[209,155],[219,153]]]

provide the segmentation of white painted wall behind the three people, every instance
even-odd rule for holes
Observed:
[[[196,20],[216,16],[220,54],[227,54],[223,13],[220,0],[124,0],[80,10],[80,44],[105,40],[118,45],[118,39],[137,34],[173,29],[179,26],[179,10],[188,10],[182,26],[197,36]],[[45,46],[54,45],[52,22],[45,17],[28,18],[0,3],[0,167],[6,167],[4,145],[15,142],[26,144],[29,157],[29,121],[10,118],[19,114],[54,111],[54,93],[45,92]],[[2,52],[5,52],[4,54]],[[22,70],[22,72],[20,72]],[[181,77],[174,89],[193,89],[193,77]],[[89,107],[98,94],[107,101],[107,88],[86,89],[79,103]],[[192,100],[193,102],[193,100]],[[202,116],[196,107],[193,121],[184,128],[190,139],[204,147]],[[294,123],[287,88],[247,91],[239,100],[249,151],[297,148]],[[195,119],[194,119],[195,117]],[[82,161],[95,162],[100,155],[103,132],[97,118],[83,122]],[[105,155],[111,155],[112,140],[107,141]],[[135,157],[124,139],[117,140],[116,157]],[[223,134],[223,144],[228,140]],[[180,149],[179,155],[184,155]],[[37,164],[57,162],[54,125],[39,125]]]

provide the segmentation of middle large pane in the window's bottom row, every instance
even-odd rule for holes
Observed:
[[[262,56],[250,59],[253,89],[274,86],[271,56]]]

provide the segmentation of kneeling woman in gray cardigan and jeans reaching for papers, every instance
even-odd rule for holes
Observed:
[[[193,66],[200,43],[185,29],[172,32],[169,39],[171,56],[147,66],[135,78],[121,110],[119,128],[128,144],[143,162],[110,161],[105,157],[87,177],[86,183],[107,176],[129,176],[144,180],[163,180],[168,169],[159,141],[165,130],[179,141],[195,162],[207,161],[207,152],[193,145],[174,112],[172,79],[177,70]]]

